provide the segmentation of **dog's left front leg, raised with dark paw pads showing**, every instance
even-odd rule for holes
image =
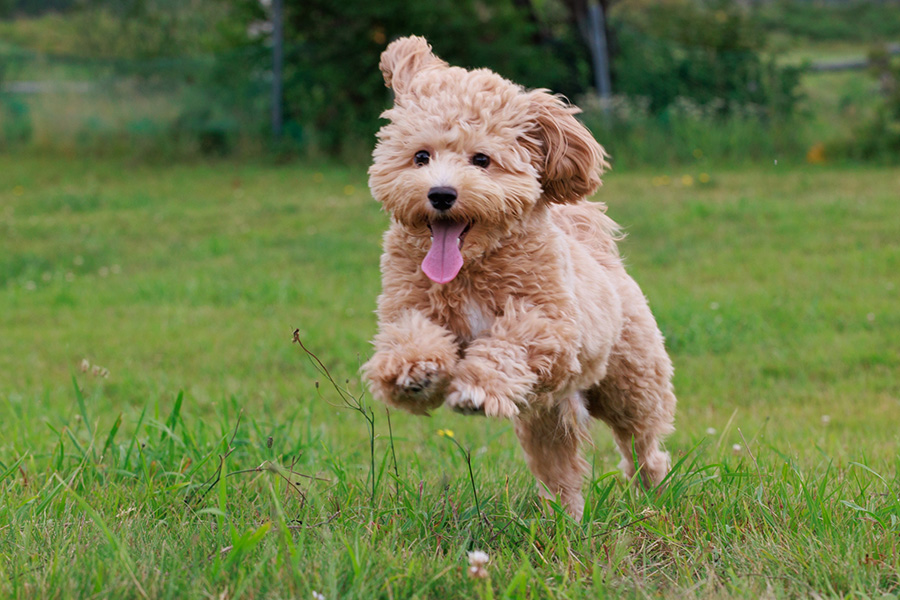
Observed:
[[[363,372],[375,398],[414,414],[443,403],[459,356],[452,333],[410,309],[380,323],[374,343]]]

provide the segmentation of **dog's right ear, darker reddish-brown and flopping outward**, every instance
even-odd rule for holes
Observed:
[[[531,146],[535,167],[541,174],[544,198],[577,202],[596,192],[600,175],[610,165],[606,151],[575,118],[580,109],[546,90],[534,90],[527,96],[534,129],[526,145]]]

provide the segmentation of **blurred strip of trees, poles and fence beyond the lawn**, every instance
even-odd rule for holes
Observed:
[[[411,33],[565,94],[617,167],[900,160],[889,0],[0,0],[0,151],[363,164]]]

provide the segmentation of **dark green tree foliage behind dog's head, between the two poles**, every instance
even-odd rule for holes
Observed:
[[[371,147],[389,105],[378,61],[393,39],[423,35],[452,64],[489,67],[529,87],[576,95],[589,80],[575,40],[535,43],[537,25],[512,0],[311,0],[286,7],[286,118],[302,144]]]

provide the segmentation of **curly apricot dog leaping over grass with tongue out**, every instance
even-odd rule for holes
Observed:
[[[609,163],[579,110],[449,66],[421,37],[392,42],[379,66],[394,105],[369,169],[391,216],[363,365],[373,396],[415,414],[446,404],[512,419],[540,493],[574,518],[590,417],[612,429],[619,468],[658,486],[672,363],[619,257],[619,227],[586,200]]]

